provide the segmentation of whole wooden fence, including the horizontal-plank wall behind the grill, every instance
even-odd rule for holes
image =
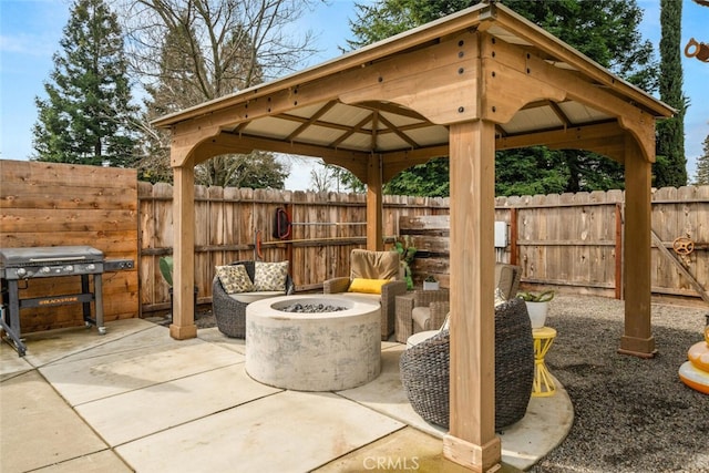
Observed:
[[[0,161],[0,245],[89,244],[107,258],[134,259],[135,270],[104,275],[106,320],[168,309],[169,288],[158,259],[172,253],[172,186],[137,183],[130,169],[12,161]],[[350,250],[366,245],[361,194],[197,186],[195,196],[194,270],[201,304],[210,301],[214,267],[253,259],[257,240],[264,260],[291,261],[297,290],[317,290],[325,279],[347,275]],[[278,207],[294,223],[288,240],[273,236]],[[497,257],[523,267],[524,286],[623,297],[623,192],[499,197],[495,207],[495,219],[506,224],[508,237]],[[402,216],[449,210],[448,198],[384,196],[387,246],[399,236]],[[709,186],[654,192],[653,229],[655,298],[709,298]],[[688,241],[678,238],[691,239],[693,250],[676,254],[672,244]],[[418,261],[417,280],[432,271],[445,281],[448,268],[436,265]],[[31,290],[51,294],[62,289],[60,279],[69,278],[37,280]],[[23,331],[82,321],[81,310],[72,306],[23,312]]]

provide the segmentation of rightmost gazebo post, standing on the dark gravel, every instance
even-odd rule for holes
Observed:
[[[646,146],[649,148],[650,146]],[[654,150],[646,150],[653,153]],[[618,352],[651,358],[657,353],[650,321],[651,164],[635,137],[625,141],[625,331]]]

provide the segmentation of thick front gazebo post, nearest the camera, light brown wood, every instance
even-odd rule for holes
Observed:
[[[477,472],[501,462],[495,435],[495,126],[450,128],[451,423],[446,459]]]

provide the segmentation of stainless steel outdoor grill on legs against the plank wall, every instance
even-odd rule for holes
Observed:
[[[103,253],[90,246],[0,248],[0,278],[2,278],[0,325],[20,357],[27,352],[27,347],[21,339],[20,309],[82,304],[86,326],[94,325],[99,333],[105,333],[101,278],[103,271]],[[62,276],[80,276],[81,292],[20,298],[20,291],[29,287],[31,279]],[[89,276],[93,276],[93,292],[89,285]],[[91,317],[92,301],[95,307],[95,318]]]

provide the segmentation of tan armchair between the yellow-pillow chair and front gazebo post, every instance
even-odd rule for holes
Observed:
[[[413,333],[441,328],[445,313],[432,311],[432,302],[448,302],[448,289],[417,289],[405,296],[397,297],[397,333],[395,340],[405,343]]]

